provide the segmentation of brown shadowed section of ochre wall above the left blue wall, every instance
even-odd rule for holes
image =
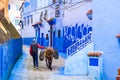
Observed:
[[[8,22],[8,20],[0,15],[0,43],[7,41],[9,39],[15,39],[20,38],[21,36],[16,31],[15,27],[11,22]]]

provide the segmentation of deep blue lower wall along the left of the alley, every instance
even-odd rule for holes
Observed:
[[[0,44],[0,80],[8,80],[11,70],[21,54],[21,38]]]

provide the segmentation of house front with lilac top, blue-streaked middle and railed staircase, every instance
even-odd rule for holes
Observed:
[[[87,53],[93,51],[93,40],[92,20],[88,18],[87,13],[91,9],[92,2],[89,1],[73,1],[64,7],[64,36],[66,42],[71,43],[67,48],[64,70],[66,75],[87,76],[89,73]]]

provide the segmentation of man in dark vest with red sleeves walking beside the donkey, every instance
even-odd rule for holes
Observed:
[[[38,48],[44,49],[45,47],[44,46],[40,46],[37,43],[36,39],[33,39],[32,43],[30,45],[30,55],[33,58],[33,66],[36,69],[39,69],[39,66],[38,66]]]

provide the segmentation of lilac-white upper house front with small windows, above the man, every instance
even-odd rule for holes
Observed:
[[[53,1],[31,0],[31,1],[25,1],[23,3],[21,7],[22,10],[21,20],[23,22],[22,37],[24,39],[30,39],[31,41],[32,38],[37,38],[37,37],[41,38],[42,36],[45,38],[46,35],[48,35],[50,39],[50,25],[48,24],[47,21],[50,19],[56,19],[55,7],[56,4],[58,3],[57,1],[56,2]],[[53,30],[56,29],[55,25],[52,25]],[[37,28],[35,28],[35,26],[37,26]],[[28,44],[29,43],[30,42],[28,42]]]

